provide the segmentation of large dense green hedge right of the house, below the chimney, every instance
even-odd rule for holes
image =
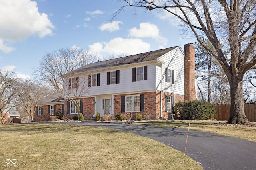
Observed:
[[[175,104],[176,119],[208,120],[213,119],[215,114],[215,106],[208,102],[185,101]]]

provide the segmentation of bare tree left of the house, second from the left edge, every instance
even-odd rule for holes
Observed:
[[[38,101],[46,97],[50,91],[47,87],[36,83],[34,80],[20,79],[16,86],[18,88],[16,96],[17,106],[22,107],[22,110],[33,121]]]

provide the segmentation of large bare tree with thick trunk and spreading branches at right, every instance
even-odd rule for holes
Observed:
[[[197,41],[221,64],[230,85],[228,123],[249,123],[244,113],[243,77],[256,68],[256,1],[255,0],[121,0],[126,6],[149,11],[164,10],[190,30]],[[117,12],[117,14],[118,14]],[[186,29],[189,28],[189,29]],[[207,37],[214,50],[200,37]],[[221,41],[230,49],[230,61]]]

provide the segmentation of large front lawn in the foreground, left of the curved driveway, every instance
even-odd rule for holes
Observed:
[[[0,169],[203,169],[182,152],[127,132],[34,123],[0,125],[0,131]],[[6,167],[6,159],[18,167]]]

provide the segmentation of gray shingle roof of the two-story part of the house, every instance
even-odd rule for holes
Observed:
[[[178,46],[176,46],[178,47]],[[143,62],[143,61],[151,61],[154,59],[157,59],[158,57],[164,55],[165,53],[168,53],[169,51],[175,49],[176,47],[170,47],[166,49],[160,49],[156,51],[149,51],[146,53],[140,53],[136,55],[129,55],[126,57],[120,57],[116,59],[110,59],[110,60],[105,60],[105,61],[99,61],[96,63],[90,63],[87,64],[86,66],[83,66],[81,68],[78,68],[74,70],[74,72],[81,73],[81,72],[88,72],[88,71],[93,71],[93,70],[99,70],[99,69],[104,69],[112,66],[119,66],[119,65],[124,65],[124,64],[132,64],[132,63],[138,63],[138,62]],[[65,75],[63,75],[65,76]]]

